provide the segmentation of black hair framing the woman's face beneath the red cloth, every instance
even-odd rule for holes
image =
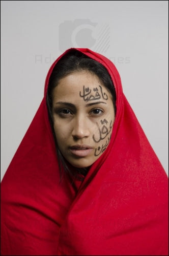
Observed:
[[[84,176],[87,174],[89,168],[77,168],[73,167],[68,163],[68,161],[64,158],[61,151],[59,150],[57,138],[54,133],[53,128],[53,118],[52,118],[52,97],[53,97],[53,89],[58,85],[60,79],[66,77],[67,75],[76,72],[87,70],[95,75],[97,75],[106,89],[112,95],[112,102],[114,105],[114,110],[116,114],[116,91],[114,84],[111,80],[111,77],[107,71],[107,69],[98,61],[91,59],[87,55],[77,51],[71,50],[67,54],[65,54],[55,65],[52,70],[52,73],[49,78],[49,84],[46,95],[46,104],[48,109],[49,121],[55,141],[55,146],[57,150],[59,167],[61,172],[61,178],[63,176],[62,167],[66,173],[68,173],[73,179],[83,180]]]

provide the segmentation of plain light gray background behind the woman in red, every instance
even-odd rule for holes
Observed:
[[[1,1],[1,180],[70,47],[115,63],[168,175],[168,1]]]

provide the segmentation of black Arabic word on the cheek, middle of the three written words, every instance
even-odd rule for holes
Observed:
[[[108,121],[106,119],[100,121],[103,125],[101,128],[99,127],[98,122],[96,122],[97,128],[98,128],[98,138],[96,138],[95,134],[93,135],[94,142],[98,143],[100,140],[105,139],[105,137],[111,132],[112,128],[112,120],[109,123],[109,128],[107,128]],[[105,123],[105,124],[104,124]]]

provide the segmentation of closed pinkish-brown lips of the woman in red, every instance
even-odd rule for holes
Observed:
[[[86,157],[93,151],[93,147],[85,144],[73,145],[70,146],[69,148],[71,153],[78,157]]]

